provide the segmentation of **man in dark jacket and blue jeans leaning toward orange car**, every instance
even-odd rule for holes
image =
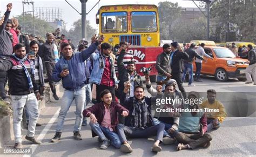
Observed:
[[[184,71],[183,71],[181,80],[184,81],[187,70],[188,70],[188,73],[190,74],[190,77],[189,77],[189,80],[188,80],[188,86],[195,86],[194,84],[192,84],[192,82],[193,82],[193,61],[194,61],[194,58],[197,57],[198,59],[201,59],[201,60],[204,59],[196,51],[194,51],[194,47],[196,47],[196,44],[192,43],[190,45],[190,48],[185,50],[185,52],[188,54],[189,58],[184,60]]]

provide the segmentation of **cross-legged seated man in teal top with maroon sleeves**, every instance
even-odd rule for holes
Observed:
[[[190,104],[181,105],[183,109],[197,110],[199,109],[196,100],[199,99],[197,92],[188,93]],[[193,104],[191,104],[193,102]],[[176,133],[176,140],[179,142],[177,151],[182,149],[195,149],[198,147],[208,148],[212,137],[206,133],[207,122],[204,112],[181,112],[179,120],[179,132]],[[185,144],[185,145],[184,145]]]

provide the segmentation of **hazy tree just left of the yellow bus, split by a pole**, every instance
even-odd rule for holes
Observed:
[[[96,34],[96,29],[92,28],[90,25],[90,21],[86,21],[86,32],[87,32],[87,40],[89,40],[93,35]],[[78,44],[79,40],[82,39],[82,20],[78,19],[72,25],[72,28],[69,30],[66,37],[72,40],[73,44]],[[90,42],[90,41],[89,41]]]

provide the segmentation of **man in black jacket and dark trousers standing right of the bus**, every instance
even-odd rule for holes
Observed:
[[[172,69],[172,78],[177,81],[180,92],[183,94],[183,97],[186,98],[186,91],[183,87],[183,83],[181,80],[182,72],[183,72],[183,59],[188,59],[189,56],[186,52],[178,50],[178,43],[171,43],[171,57],[170,57],[170,65]]]

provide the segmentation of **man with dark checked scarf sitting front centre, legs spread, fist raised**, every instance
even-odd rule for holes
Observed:
[[[160,141],[163,141],[164,124],[154,125],[151,114],[151,99],[144,96],[143,86],[134,87],[134,97],[126,98],[129,91],[130,83],[125,83],[122,93],[122,101],[124,106],[129,110],[129,115],[125,118],[125,125],[117,125],[117,133],[122,142],[121,151],[125,153],[132,152],[131,146],[125,137],[131,138],[148,138],[156,135],[156,141],[153,144],[152,151],[160,152]]]

